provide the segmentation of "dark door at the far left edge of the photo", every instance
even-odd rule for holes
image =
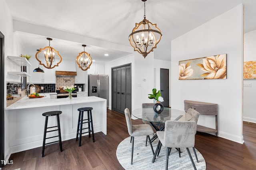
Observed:
[[[4,166],[4,35],[0,32],[0,168]]]

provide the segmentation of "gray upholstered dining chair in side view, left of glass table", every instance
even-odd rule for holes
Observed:
[[[133,158],[134,137],[147,136],[147,139],[150,143],[152,153],[154,155],[154,149],[152,147],[152,143],[151,143],[150,137],[149,137],[149,135],[154,135],[154,131],[153,131],[152,127],[148,124],[132,125],[131,114],[130,114],[130,111],[128,108],[124,109],[124,114],[125,114],[125,118],[126,118],[128,133],[132,137],[131,164],[132,164],[132,158]]]

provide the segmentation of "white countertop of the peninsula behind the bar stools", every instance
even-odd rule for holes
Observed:
[[[54,93],[40,93],[40,96],[45,96],[43,98],[28,98],[27,96],[18,100],[14,104],[6,107],[6,110],[12,109],[25,109],[33,107],[45,107],[45,106],[58,106],[66,104],[79,104],[79,103],[89,103],[89,102],[102,102],[106,99],[98,98],[96,96],[86,96],[82,98],[60,98],[60,99],[51,99],[50,94]]]

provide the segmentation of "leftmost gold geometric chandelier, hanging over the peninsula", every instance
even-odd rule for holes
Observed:
[[[54,68],[55,66],[59,66],[59,64],[62,61],[62,57],[60,56],[59,52],[56,51],[54,48],[50,46],[50,41],[52,41],[52,38],[46,38],[49,41],[49,46],[44,47],[43,49],[40,48],[40,50],[36,53],[36,60],[39,61],[40,65],[43,65],[45,68]],[[38,59],[38,54],[44,51],[44,60],[46,64],[44,64],[44,61],[40,61]],[[56,55],[55,55],[56,53]],[[56,60],[56,57],[60,58]],[[58,63],[56,63],[58,61]],[[54,64],[56,63],[56,64]]]

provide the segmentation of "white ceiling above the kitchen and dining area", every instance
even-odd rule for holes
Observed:
[[[162,39],[154,49],[155,59],[170,61],[170,41],[206,21],[243,3],[244,31],[256,29],[255,0],[147,0],[146,19],[162,31]],[[142,21],[144,2],[141,0],[6,0],[14,20],[59,29],[88,37],[130,46],[128,35],[135,23]],[[46,37],[17,31],[28,54],[48,46]],[[75,59],[83,51],[81,43],[53,39],[51,46],[63,58]],[[86,44],[92,59],[104,63],[133,53],[114,51]],[[108,57],[104,54],[108,53]]]

